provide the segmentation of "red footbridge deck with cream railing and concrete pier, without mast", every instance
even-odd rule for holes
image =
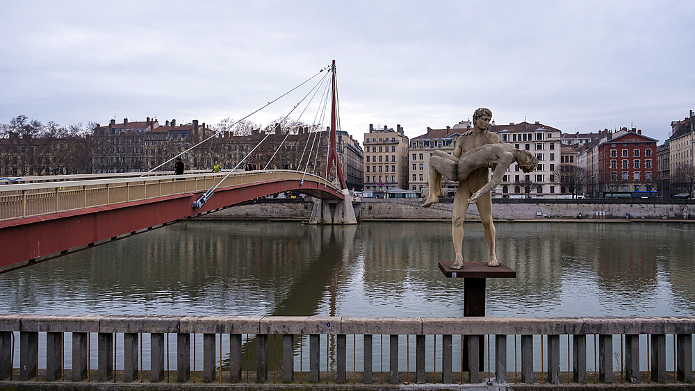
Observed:
[[[286,191],[317,199],[313,223],[354,223],[354,212],[349,213],[352,204],[344,202],[347,190],[320,176],[291,170],[227,174],[41,176],[0,185],[0,269],[55,258]],[[214,196],[194,208],[194,202],[215,185]]]

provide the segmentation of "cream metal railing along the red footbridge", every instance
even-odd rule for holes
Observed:
[[[140,201],[188,192],[201,192],[217,184],[226,173],[183,174],[128,178],[55,181],[0,185],[0,221],[67,212],[95,206]],[[264,181],[301,180],[326,183],[312,174],[291,170],[240,171],[229,175],[220,188]],[[327,187],[337,190],[333,183]]]

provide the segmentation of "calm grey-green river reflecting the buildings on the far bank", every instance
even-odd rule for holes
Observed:
[[[695,315],[693,224],[496,227],[517,278],[488,279],[487,316]],[[484,261],[482,226],[464,229]],[[0,274],[0,313],[459,316],[463,280],[437,267],[453,257],[447,222],[182,222]]]

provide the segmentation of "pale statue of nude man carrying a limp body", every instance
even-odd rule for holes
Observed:
[[[480,213],[488,245],[487,265],[500,265],[495,253],[495,224],[492,222],[490,191],[500,184],[502,176],[512,163],[518,163],[519,168],[527,173],[538,165],[538,159],[529,151],[500,142],[498,135],[488,130],[491,119],[492,112],[489,109],[475,110],[473,130],[459,136],[452,155],[437,150],[430,158],[430,194],[427,195],[423,208],[439,202],[439,197],[444,195],[441,189],[442,175],[459,182],[454,197],[451,226],[456,254],[452,269],[461,269],[464,264],[461,247],[464,241],[464,217],[470,203],[475,203]],[[495,169],[490,181],[489,168]]]

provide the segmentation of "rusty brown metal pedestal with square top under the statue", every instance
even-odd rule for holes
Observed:
[[[439,262],[439,269],[448,278],[464,278],[464,317],[485,316],[485,279],[516,278],[516,271],[500,263],[490,267],[484,262],[464,262],[461,269],[452,269],[453,262]],[[472,337],[472,336],[471,336]],[[464,335],[464,351],[468,351],[468,335]],[[483,335],[478,346],[484,347]],[[480,349],[480,371],[484,368],[484,349]],[[464,354],[464,371],[468,371],[468,355]]]

